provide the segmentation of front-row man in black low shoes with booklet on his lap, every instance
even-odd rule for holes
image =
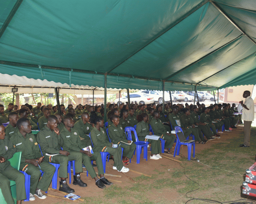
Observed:
[[[86,113],[84,112],[83,114]],[[99,188],[105,188],[106,186],[104,184],[112,185],[113,183],[109,182],[104,177],[104,170],[100,153],[94,152],[94,154],[91,154],[90,152],[83,150],[83,148],[86,148],[87,146],[82,144],[78,130],[73,128],[74,121],[72,121],[71,118],[69,118],[68,116],[64,117],[63,123],[65,125],[65,128],[61,131],[61,137],[64,142],[63,150],[82,153],[82,162],[86,167],[86,170],[90,174],[91,178],[95,180],[96,186],[98,186]],[[93,165],[91,164],[91,160],[96,161],[96,165],[99,171],[98,175],[100,176],[100,179],[95,173]]]

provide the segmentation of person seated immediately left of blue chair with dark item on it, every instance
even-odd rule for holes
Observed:
[[[154,132],[154,135],[160,136],[161,139],[166,140],[165,142],[165,152],[171,154],[170,150],[173,146],[173,143],[176,139],[174,135],[166,132],[164,125],[160,121],[159,111],[154,111],[154,118],[152,118],[150,125]]]

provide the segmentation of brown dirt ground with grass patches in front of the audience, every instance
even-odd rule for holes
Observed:
[[[82,173],[81,177],[87,183],[87,187],[82,188],[73,185],[73,176],[69,186],[75,189],[75,194],[84,199],[84,201],[78,201],[79,203],[176,204],[186,203],[191,198],[210,199],[220,202],[246,199],[247,197],[241,194],[241,186],[245,178],[245,170],[255,162],[255,133],[256,129],[254,128],[251,132],[251,147],[240,148],[238,145],[243,143],[243,126],[237,125],[237,129],[232,132],[222,133],[219,139],[205,144],[196,144],[195,158],[191,155],[191,160],[189,161],[187,160],[186,146],[181,148],[180,156],[173,157],[173,154],[163,154],[179,162],[164,157],[159,160],[151,160],[149,158],[150,152],[148,152],[147,161],[141,155],[140,164],[136,164],[136,155],[134,155],[128,168],[151,177],[132,171],[124,174],[113,170],[113,160],[109,160],[106,165],[110,168],[106,167],[106,174],[120,176],[105,175],[107,179],[113,181],[114,184],[112,186],[100,189],[90,176],[86,176],[86,173]],[[172,151],[174,151],[174,148]],[[192,159],[199,159],[199,162]],[[95,168],[95,171],[97,172],[97,168]],[[60,197],[64,196],[52,190],[48,190],[48,193]],[[254,200],[252,197],[249,197],[249,199]],[[35,201],[23,203],[65,204],[75,202],[66,198],[62,200],[48,196],[44,200],[36,197]],[[188,203],[206,202],[191,200]]]

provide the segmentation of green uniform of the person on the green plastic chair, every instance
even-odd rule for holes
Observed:
[[[0,156],[5,158],[5,162],[0,163],[0,188],[7,204],[14,204],[11,194],[10,180],[16,183],[16,199],[25,200],[25,176],[23,173],[14,169],[8,159],[12,158],[16,148],[13,147],[12,141],[8,137],[0,139]],[[10,180],[9,180],[10,179]]]

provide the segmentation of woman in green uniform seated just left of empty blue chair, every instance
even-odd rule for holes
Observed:
[[[128,111],[125,112],[128,115]],[[129,159],[131,159],[134,150],[136,149],[136,145],[131,143],[131,140],[127,140],[124,128],[119,124],[118,116],[113,115],[110,120],[112,121],[112,125],[109,127],[109,137],[112,139],[111,142],[113,144],[117,144],[118,147],[124,148],[123,151],[123,162],[125,165],[128,165]],[[131,143],[131,145],[127,145],[126,143]]]

